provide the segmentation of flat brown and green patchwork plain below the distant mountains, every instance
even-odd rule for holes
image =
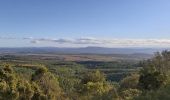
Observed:
[[[1,64],[9,63],[26,69],[36,69],[46,66],[51,71],[61,67],[81,67],[84,70],[100,70],[105,73],[108,80],[119,81],[132,72],[140,69],[138,62],[150,56],[137,54],[1,54]],[[29,70],[24,70],[29,71]],[[24,73],[23,71],[23,73]]]

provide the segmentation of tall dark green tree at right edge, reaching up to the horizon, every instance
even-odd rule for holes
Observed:
[[[139,86],[142,90],[157,90],[166,84],[169,75],[170,51],[157,52],[155,56],[143,63]]]

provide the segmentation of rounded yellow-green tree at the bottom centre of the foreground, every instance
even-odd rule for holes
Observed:
[[[100,71],[89,72],[84,75],[80,83],[80,93],[86,100],[100,100],[113,87],[105,80]]]

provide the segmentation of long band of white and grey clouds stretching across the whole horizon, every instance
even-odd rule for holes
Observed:
[[[67,46],[100,46],[100,47],[170,47],[170,39],[107,39],[107,38],[13,38],[13,37],[0,37],[6,40],[23,40],[28,41],[30,44],[60,44]]]

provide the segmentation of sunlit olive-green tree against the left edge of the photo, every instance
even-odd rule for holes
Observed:
[[[0,98],[2,100],[15,100],[18,98],[17,81],[16,75],[9,65],[0,70]]]

